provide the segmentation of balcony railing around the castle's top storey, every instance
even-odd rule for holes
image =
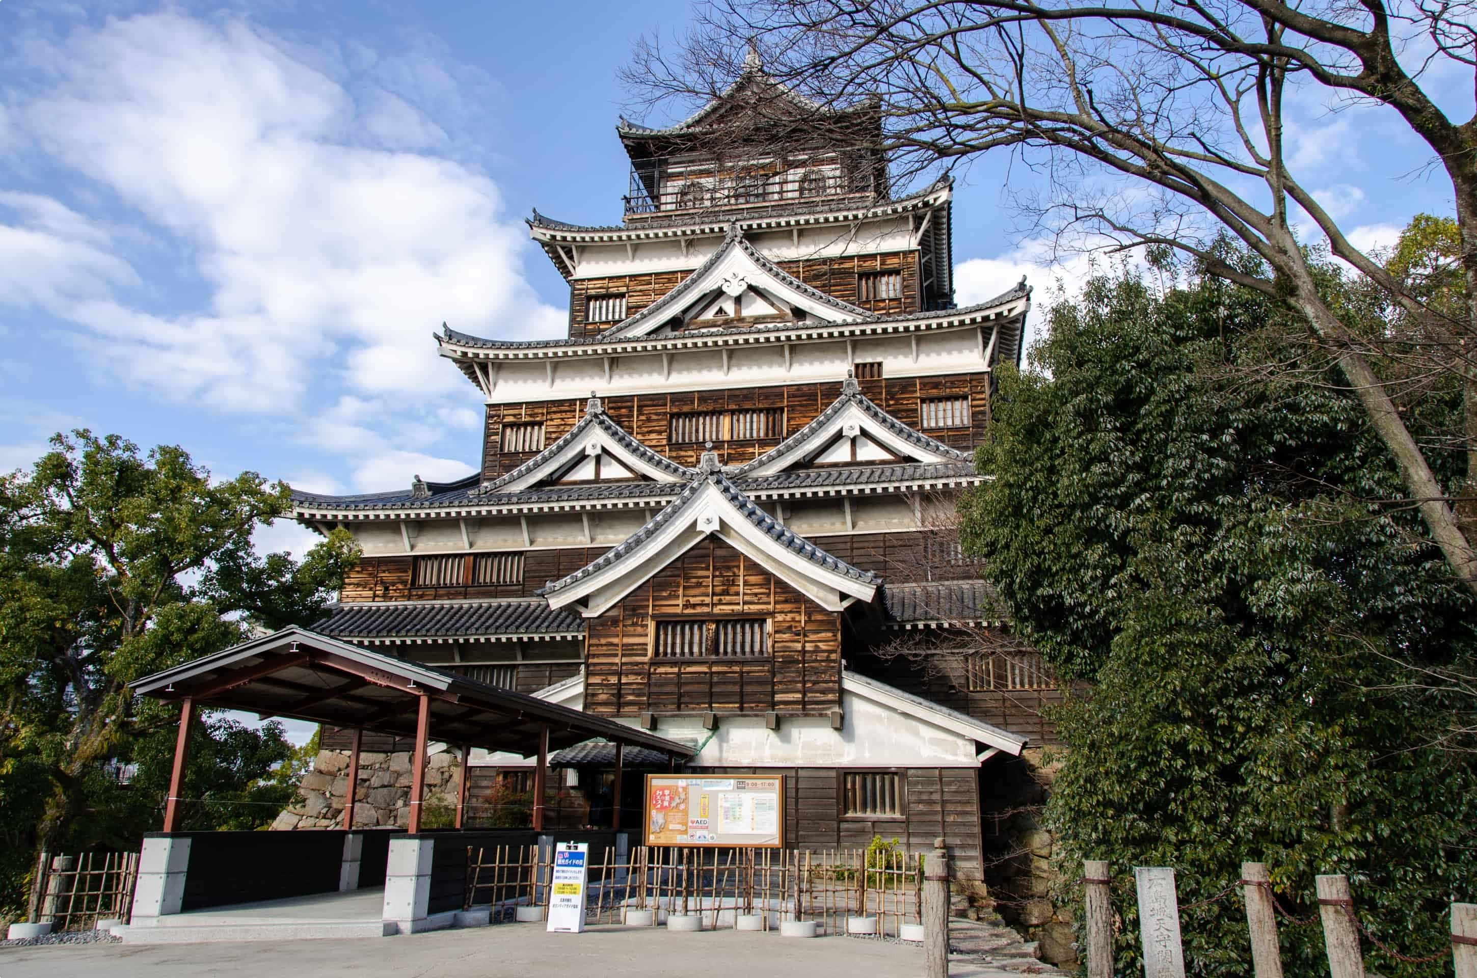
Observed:
[[[648,183],[662,191],[653,194]],[[681,211],[733,211],[784,204],[805,204],[839,196],[874,196],[871,173],[786,170],[734,176],[653,177],[651,170],[631,170],[625,195],[626,217]]]

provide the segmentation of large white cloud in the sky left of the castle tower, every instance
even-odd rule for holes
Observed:
[[[0,192],[0,304],[71,324],[106,380],[210,412],[318,415],[347,391],[357,423],[332,408],[303,437],[332,428],[328,451],[387,485],[418,459],[427,477],[465,470],[406,451],[443,436],[437,412],[473,427],[431,329],[533,338],[564,315],[527,284],[533,250],[498,186],[427,111],[465,118],[458,78],[411,47],[304,49],[179,13],[30,38],[0,137],[81,179]],[[123,207],[174,267],[62,199]],[[179,267],[196,281],[164,279]]]

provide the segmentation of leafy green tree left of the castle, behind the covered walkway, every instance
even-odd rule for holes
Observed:
[[[179,715],[128,683],[251,629],[310,623],[357,558],[343,532],[301,563],[258,557],[251,535],[285,511],[288,488],[256,473],[214,480],[180,448],[142,455],[90,431],[52,443],[31,471],[0,476],[4,900],[37,845],[124,845],[158,824]],[[205,801],[189,824],[275,815],[291,796],[275,774],[291,767],[282,727],[202,727],[186,787]]]

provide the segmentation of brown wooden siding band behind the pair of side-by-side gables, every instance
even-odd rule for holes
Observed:
[[[947,377],[895,377],[861,381],[861,391],[885,411],[910,427],[919,427],[919,400],[925,397],[967,396],[970,412],[967,428],[929,431],[932,437],[953,448],[969,451],[985,437],[988,424],[988,374],[951,374]],[[780,437],[741,442],[716,442],[713,451],[725,464],[746,462],[768,452],[790,434],[815,420],[840,396],[840,381],[827,384],[790,384],[784,387],[737,387],[733,390],[700,390],[681,394],[638,394],[606,397],[610,418],[634,434],[647,448],[684,465],[696,465],[706,451],[697,443],[671,443],[671,415],[684,411],[733,411],[743,408],[778,409],[784,415]],[[483,474],[487,479],[511,471],[532,458],[529,452],[501,451],[502,423],[524,421],[538,415],[545,420],[544,443],[563,437],[583,417],[583,400],[552,400],[513,405],[487,405],[487,431]],[[527,575],[524,575],[527,576]]]

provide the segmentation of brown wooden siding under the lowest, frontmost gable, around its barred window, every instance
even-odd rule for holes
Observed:
[[[746,660],[653,660],[660,615],[772,619],[771,654]],[[585,709],[817,714],[840,703],[840,622],[727,544],[709,536],[589,622]]]

